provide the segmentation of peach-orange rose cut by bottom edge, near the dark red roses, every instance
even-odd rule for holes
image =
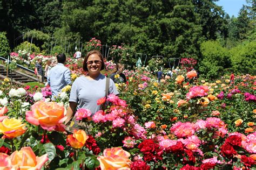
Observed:
[[[101,169],[130,169],[130,153],[120,147],[107,148],[103,156],[98,157]]]

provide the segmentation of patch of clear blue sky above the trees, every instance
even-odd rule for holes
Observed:
[[[230,17],[234,15],[238,17],[238,12],[242,8],[242,5],[246,5],[245,0],[219,0],[215,2],[219,6],[223,6],[223,9]]]

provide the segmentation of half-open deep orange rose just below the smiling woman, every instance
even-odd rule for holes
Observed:
[[[73,135],[69,134],[67,140],[73,148],[82,148],[89,136],[83,130],[74,130]]]

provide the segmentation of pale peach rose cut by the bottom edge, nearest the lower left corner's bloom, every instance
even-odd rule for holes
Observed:
[[[41,169],[48,161],[47,154],[36,157],[31,147],[22,147],[10,155],[11,164],[15,169]]]

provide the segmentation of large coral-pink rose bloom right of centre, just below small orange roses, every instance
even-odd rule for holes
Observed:
[[[189,92],[186,94],[187,100],[194,97],[204,97],[209,91],[208,86],[193,86],[190,88]]]

